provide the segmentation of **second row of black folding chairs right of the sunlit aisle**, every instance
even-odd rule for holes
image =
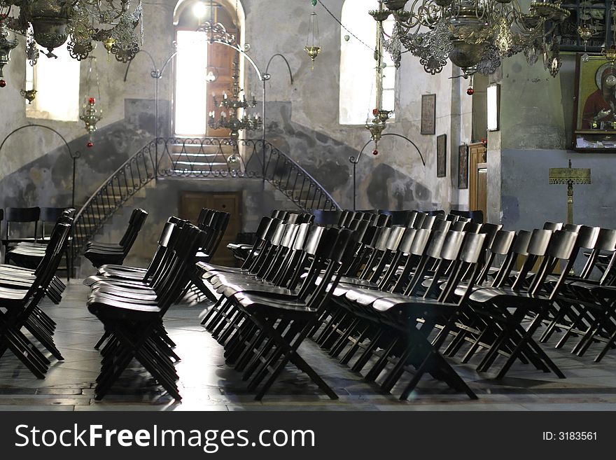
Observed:
[[[363,262],[356,265],[359,271],[342,277],[333,295],[335,302],[323,312],[319,326],[311,332],[321,347],[340,357],[345,365],[355,360],[351,364],[353,371],[371,366],[365,378],[372,382],[386,365],[392,365],[393,377],[385,379],[388,390],[403,370],[414,368],[414,377],[403,391],[403,398],[424,372],[476,397],[428,337],[416,332],[416,323],[423,320],[421,314],[411,317],[430,312],[426,307],[442,317],[454,314],[455,308],[447,303],[452,302],[454,287],[462,277],[474,280],[479,276],[484,247],[491,244],[500,226],[486,224],[470,232],[450,228],[451,221],[444,219],[437,220],[434,230],[376,228],[372,242],[363,241]],[[447,288],[437,289],[440,285]],[[387,301],[393,301],[392,295],[401,296],[400,302],[414,305],[405,310],[403,321],[384,307],[388,296]],[[373,307],[374,302],[378,308]]]

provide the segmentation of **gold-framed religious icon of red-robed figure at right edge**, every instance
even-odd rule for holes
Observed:
[[[573,150],[616,151],[616,65],[603,55],[576,58]]]

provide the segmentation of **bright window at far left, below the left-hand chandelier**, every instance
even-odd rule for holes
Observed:
[[[66,50],[66,43],[55,48],[57,59],[43,55],[32,67],[26,60],[26,90],[36,89],[36,97],[26,104],[28,118],[79,120],[79,67]]]

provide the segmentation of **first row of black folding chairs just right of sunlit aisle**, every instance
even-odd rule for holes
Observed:
[[[203,323],[223,344],[226,361],[242,372],[256,399],[288,363],[337,398],[297,348],[342,274],[353,230],[265,217],[257,235],[242,267],[197,264],[203,288],[220,296]]]

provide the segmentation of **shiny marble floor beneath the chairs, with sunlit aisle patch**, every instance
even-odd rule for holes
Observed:
[[[394,396],[396,391],[379,393],[376,386],[307,340],[302,356],[335,389],[339,400],[330,400],[305,375],[289,368],[264,400],[257,402],[239,373],[225,365],[221,346],[200,326],[202,307],[182,305],[172,307],[165,316],[182,358],[176,366],[181,403],[137,366],[125,372],[104,400],[95,401],[99,353],[92,346],[102,326],[85,308],[88,291],[74,281],[60,305],[43,305],[57,322],[55,342],[65,358],[53,361],[45,379],[33,377],[10,352],[0,358],[0,410],[616,410],[616,350],[594,363],[595,349],[578,358],[569,353],[570,347],[554,350],[554,342],[545,349],[566,379],[517,363],[497,382],[492,375],[478,374],[472,363],[454,361],[479,400],[452,393],[444,384],[424,377],[410,400],[400,401]]]

